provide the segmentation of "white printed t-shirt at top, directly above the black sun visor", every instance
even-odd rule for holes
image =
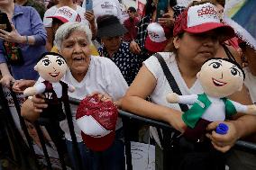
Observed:
[[[86,4],[87,0],[84,0],[82,7],[85,9]],[[118,0],[93,0],[93,10],[96,19],[101,15],[113,14],[114,16],[117,16],[120,21],[122,20],[122,13]]]

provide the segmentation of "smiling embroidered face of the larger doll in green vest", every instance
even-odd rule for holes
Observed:
[[[197,78],[206,94],[218,98],[240,91],[243,84],[241,68],[222,58],[206,61]]]

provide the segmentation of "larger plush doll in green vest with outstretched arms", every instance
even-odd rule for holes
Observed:
[[[236,112],[256,114],[256,105],[242,105],[226,98],[242,90],[244,73],[236,62],[225,58],[208,59],[197,73],[197,79],[204,94],[167,95],[169,103],[192,105],[182,115],[182,120],[187,125],[185,138],[202,141],[210,122],[224,121],[226,116],[232,116]]]

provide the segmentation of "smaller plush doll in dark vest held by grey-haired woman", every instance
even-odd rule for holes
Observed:
[[[68,102],[68,91],[75,91],[74,86],[60,81],[68,69],[65,58],[57,53],[46,52],[42,54],[34,69],[40,77],[36,84],[26,88],[23,94],[25,96],[44,94],[48,107],[41,112],[41,117],[58,121],[64,120],[65,114],[62,110],[62,102]]]

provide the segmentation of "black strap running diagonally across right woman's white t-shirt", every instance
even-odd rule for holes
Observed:
[[[164,59],[161,57],[160,53],[155,53],[154,56],[156,58],[158,58],[159,62],[160,62],[160,66],[163,70],[163,73],[164,75],[166,76],[166,79],[168,80],[169,82],[169,86],[170,88],[172,89],[172,91],[178,95],[182,95],[179,88],[178,88],[178,85],[174,79],[174,77],[172,76],[172,74],[170,73],[169,71],[169,68],[166,64],[166,62],[164,61]],[[188,110],[188,107],[187,107],[187,104],[182,104],[182,103],[178,103],[180,109],[182,112],[187,112]]]

